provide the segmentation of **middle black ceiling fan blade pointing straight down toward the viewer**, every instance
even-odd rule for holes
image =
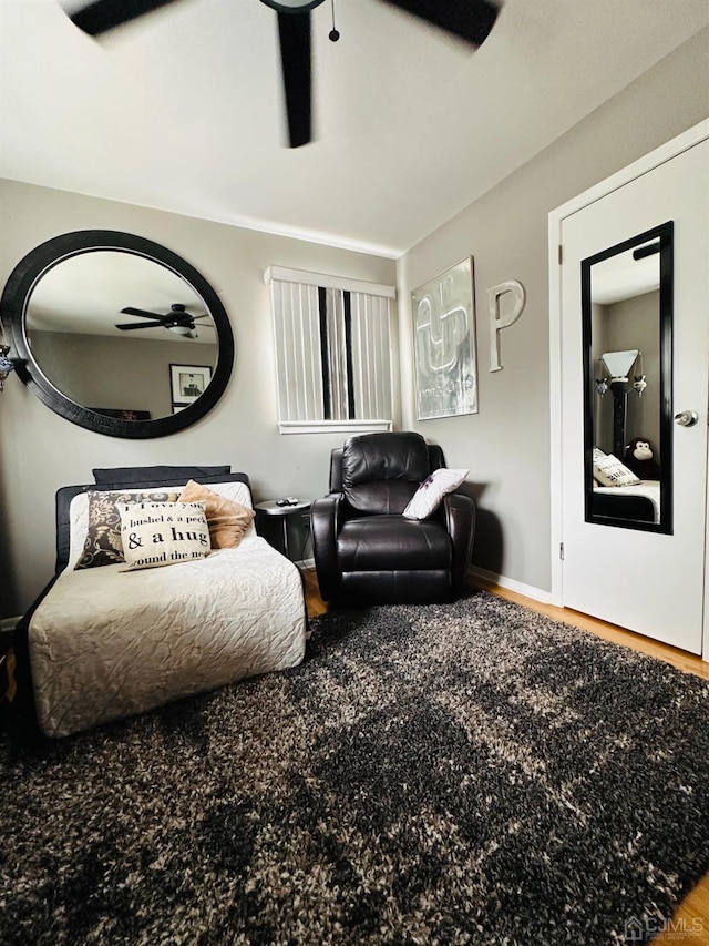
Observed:
[[[290,148],[310,141],[310,11],[278,13],[280,63],[288,113]]]

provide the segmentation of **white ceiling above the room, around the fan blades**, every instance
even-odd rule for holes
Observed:
[[[443,0],[442,0],[443,1]],[[381,0],[312,13],[284,146],[276,14],[179,0],[96,42],[0,0],[0,176],[398,256],[709,23],[707,0],[507,0],[475,53]]]

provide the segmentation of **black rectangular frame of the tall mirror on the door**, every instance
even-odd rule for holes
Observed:
[[[599,526],[616,526],[621,529],[638,529],[671,536],[674,531],[672,507],[672,318],[675,306],[674,221],[633,236],[596,253],[580,264],[583,362],[584,362],[584,511],[585,521]],[[592,342],[592,268],[600,263],[640,246],[650,240],[659,242],[660,289],[660,521],[645,522],[636,519],[619,519],[600,516],[593,508],[593,448],[594,448],[594,372],[590,363]],[[621,458],[619,458],[621,459]]]

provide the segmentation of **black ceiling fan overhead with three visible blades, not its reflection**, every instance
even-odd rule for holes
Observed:
[[[69,0],[65,0],[68,3]],[[69,17],[92,37],[101,35],[175,0],[90,0],[72,2]],[[280,62],[290,148],[311,136],[310,11],[325,0],[260,0],[278,13]],[[381,0],[480,47],[492,30],[503,0]],[[332,29],[331,40],[339,33]]]

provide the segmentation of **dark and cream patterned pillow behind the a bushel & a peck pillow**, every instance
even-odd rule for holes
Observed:
[[[117,506],[127,502],[176,502],[179,488],[151,490],[122,490],[102,492],[91,490],[89,496],[89,530],[84,550],[74,569],[116,564],[123,559],[121,515]]]

